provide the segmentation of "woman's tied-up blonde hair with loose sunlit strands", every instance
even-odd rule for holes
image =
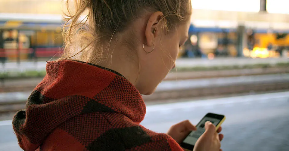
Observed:
[[[70,11],[69,2],[66,2],[68,13],[64,14],[65,43],[60,60],[94,64],[109,56],[105,50],[109,49],[110,42],[116,42],[119,33],[129,29],[144,13],[161,11],[164,14],[161,28],[169,32],[188,21],[192,11],[191,0],[74,0],[74,11]],[[86,16],[83,18],[83,15]],[[137,41],[129,37],[124,43],[133,50]]]

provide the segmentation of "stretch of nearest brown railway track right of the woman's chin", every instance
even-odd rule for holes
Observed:
[[[157,101],[285,90],[289,90],[289,80],[279,80],[262,83],[243,83],[238,85],[220,85],[201,88],[187,88],[173,91],[159,91],[149,96],[143,96],[143,99],[145,101]]]

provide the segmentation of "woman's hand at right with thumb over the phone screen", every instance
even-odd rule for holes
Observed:
[[[218,134],[222,131],[220,127],[216,131],[216,126],[211,122],[207,121],[205,123],[206,131],[197,140],[194,151],[222,151],[220,141],[223,139],[223,134]]]

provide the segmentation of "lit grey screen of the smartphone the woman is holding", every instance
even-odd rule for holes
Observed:
[[[216,119],[212,117],[205,116],[199,123],[196,125],[197,131],[192,131],[183,141],[183,143],[187,143],[190,145],[195,145],[198,138],[205,132],[205,123],[207,121],[212,122],[214,125],[218,125],[222,119]]]

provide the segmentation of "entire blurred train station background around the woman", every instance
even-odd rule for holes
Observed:
[[[144,96],[145,127],[165,133],[207,112],[227,116],[224,151],[289,150],[289,1],[192,0],[189,40]],[[15,112],[61,55],[65,1],[0,0],[0,150],[21,150]]]

